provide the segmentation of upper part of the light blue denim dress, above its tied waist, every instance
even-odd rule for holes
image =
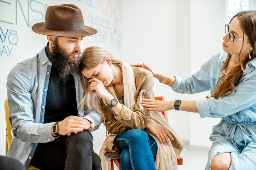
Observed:
[[[195,94],[216,90],[219,77],[223,75],[220,69],[227,58],[227,53],[213,55],[195,74],[188,78],[175,76],[173,90],[178,93]],[[201,118],[224,118],[228,122],[256,122],[256,59],[247,63],[245,73],[232,95],[218,99],[203,98],[196,100],[196,107]]]

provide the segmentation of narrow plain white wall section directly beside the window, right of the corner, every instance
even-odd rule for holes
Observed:
[[[191,73],[195,73],[200,66],[212,55],[223,51],[222,37],[225,35],[225,1],[191,0]],[[191,100],[205,98],[209,92],[191,95]],[[190,138],[192,146],[211,145],[209,135],[212,126],[220,119],[204,118],[199,114],[190,115]]]

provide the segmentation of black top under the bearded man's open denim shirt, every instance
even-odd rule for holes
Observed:
[[[44,123],[61,121],[71,115],[78,116],[74,77],[72,76],[67,82],[61,83],[57,69],[52,66],[46,97]]]

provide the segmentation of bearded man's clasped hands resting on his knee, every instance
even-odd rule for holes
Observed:
[[[77,134],[83,130],[91,130],[91,128],[94,128],[94,125],[87,119],[79,116],[69,116],[58,123],[58,133],[62,136],[70,136],[71,133]],[[56,136],[53,134],[53,130],[51,132],[53,136]]]

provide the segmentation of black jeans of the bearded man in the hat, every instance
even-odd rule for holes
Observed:
[[[93,151],[93,136],[87,130],[39,143],[30,164],[41,170],[101,170],[100,157]]]

